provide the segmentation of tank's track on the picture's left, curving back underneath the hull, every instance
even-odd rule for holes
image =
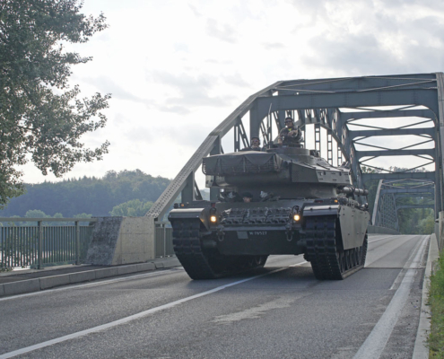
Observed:
[[[264,267],[268,256],[223,256],[217,250],[204,250],[200,241],[200,220],[172,223],[173,246],[180,264],[192,279],[215,279]]]

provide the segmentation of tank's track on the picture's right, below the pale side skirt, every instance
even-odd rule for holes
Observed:
[[[340,280],[364,267],[367,256],[367,234],[361,247],[342,250],[336,243],[341,235],[337,216],[306,217],[306,258],[319,280]]]

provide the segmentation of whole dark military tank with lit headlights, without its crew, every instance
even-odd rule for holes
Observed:
[[[370,215],[357,197],[367,191],[353,187],[346,166],[276,146],[209,156],[202,168],[206,187],[221,189],[219,200],[176,205],[169,215],[175,253],[191,278],[263,267],[272,254],[303,253],[320,280],[364,266]]]

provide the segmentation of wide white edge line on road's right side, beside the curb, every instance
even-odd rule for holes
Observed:
[[[412,262],[412,267],[419,267],[422,252],[427,244],[427,238],[427,236],[424,237],[420,249],[414,253],[415,257]],[[407,302],[408,295],[414,284],[416,271],[416,268],[407,270],[401,285],[399,285],[392,300],[388,303],[386,311],[384,311],[381,318],[379,318],[378,323],[376,323],[373,330],[371,330],[369,337],[365,339],[356,355],[353,356],[353,359],[377,359],[380,357],[401,315],[401,311],[403,311],[405,307],[405,302]]]

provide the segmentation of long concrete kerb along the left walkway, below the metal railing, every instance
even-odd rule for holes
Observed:
[[[110,276],[123,276],[137,272],[148,272],[161,268],[181,266],[178,258],[168,258],[153,262],[130,264],[127,266],[85,270],[83,272],[67,273],[57,276],[44,276],[41,278],[25,279],[22,281],[4,283],[0,285],[0,297],[23,293],[39,292],[60,285],[74,285],[76,283],[91,282],[93,280],[108,278]]]

